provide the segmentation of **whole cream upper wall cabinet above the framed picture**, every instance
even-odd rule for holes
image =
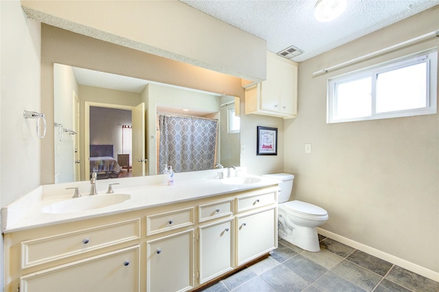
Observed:
[[[267,80],[246,88],[246,114],[297,116],[298,64],[267,52]]]

